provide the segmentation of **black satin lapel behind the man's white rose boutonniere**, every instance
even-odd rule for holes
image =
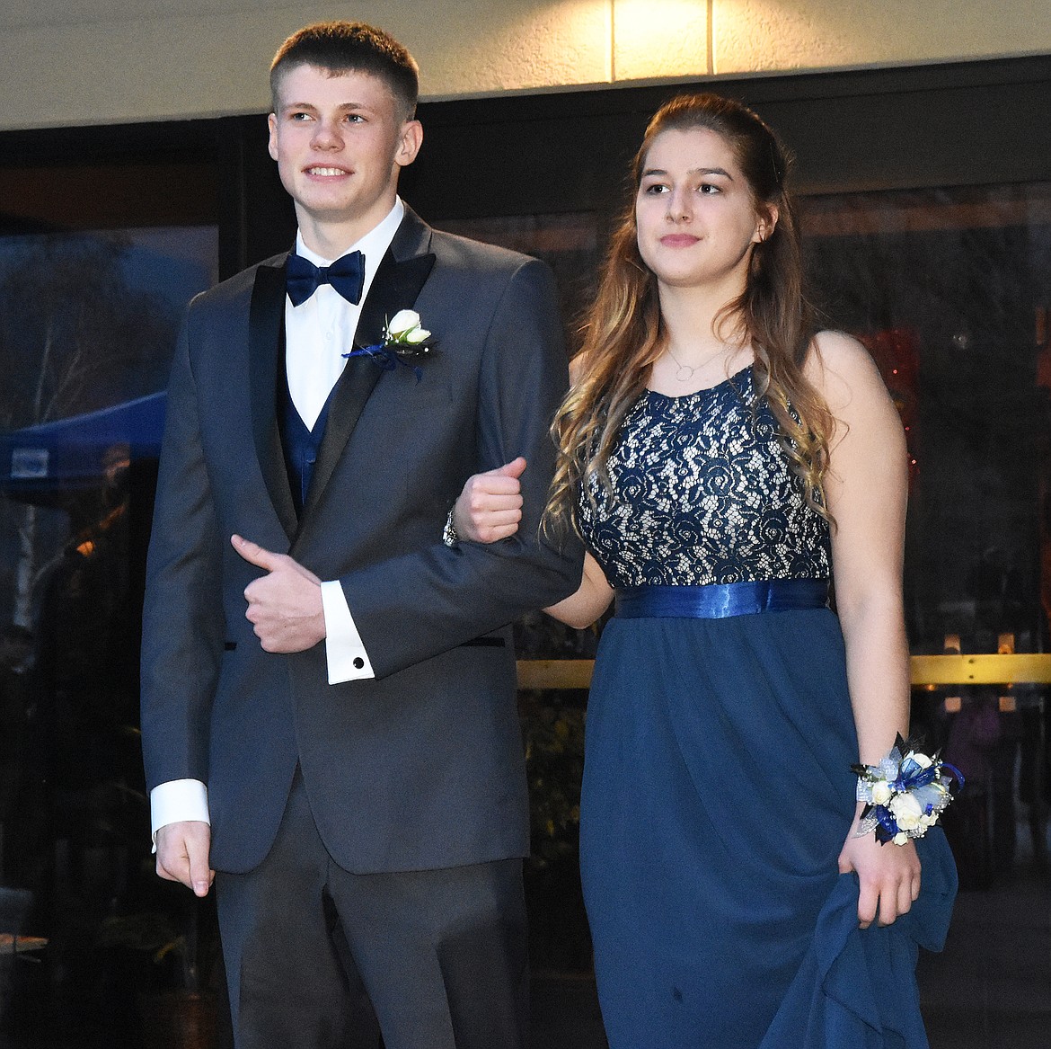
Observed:
[[[354,343],[357,346],[373,346],[383,339],[387,321],[399,309],[411,309],[434,265],[433,255],[417,255],[401,262],[388,251],[376,270],[369,288],[368,298],[362,307]],[[424,318],[427,326],[427,318]],[[332,395],[325,437],[317,451],[314,476],[310,482],[304,519],[317,504],[339,457],[347,447],[351,433],[357,425],[369,395],[372,392],[383,368],[368,357],[352,357],[339,378]]]

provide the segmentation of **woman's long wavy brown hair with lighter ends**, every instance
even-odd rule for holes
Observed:
[[[743,294],[723,307],[717,324],[750,338],[757,391],[765,395],[777,419],[807,502],[827,517],[822,481],[833,422],[803,374],[815,318],[803,289],[795,209],[784,188],[789,158],[770,128],[741,103],[718,95],[682,95],[661,106],[646,127],[633,169],[636,194],[654,139],[692,128],[707,128],[729,144],[760,214],[777,208],[774,231],[753,245]],[[584,489],[594,499],[588,479],[597,477],[609,489],[607,461],[620,425],[667,338],[657,279],[639,254],[634,195],[611,238],[581,335],[579,372],[552,424],[558,463],[547,510],[549,522],[569,520],[574,527],[578,492]]]

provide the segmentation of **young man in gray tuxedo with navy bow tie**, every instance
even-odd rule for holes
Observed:
[[[143,744],[158,873],[215,877],[240,1049],[344,1045],[358,984],[386,1049],[523,1044],[508,624],[580,581],[538,529],[565,359],[542,264],[397,198],[416,83],[360,23],[284,43],[295,251],[197,298],[172,369]],[[411,359],[377,348],[404,309]],[[465,480],[519,455],[517,537],[442,542]]]

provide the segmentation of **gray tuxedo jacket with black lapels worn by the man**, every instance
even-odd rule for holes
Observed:
[[[296,518],[276,423],[285,258],[194,299],[177,349],[144,616],[147,786],[207,784],[219,870],[266,855],[297,763],[348,870],[526,854],[509,623],[575,590],[581,569],[575,541],[556,548],[538,531],[566,385],[551,274],[407,209],[355,342],[414,308],[434,351],[418,382],[348,361]],[[442,545],[463,481],[517,455],[517,536]],[[260,570],[233,532],[341,581],[374,680],[329,685],[324,643],[262,650],[244,600]]]

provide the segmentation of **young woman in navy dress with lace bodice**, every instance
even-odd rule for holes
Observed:
[[[549,523],[590,553],[549,611],[617,599],[580,830],[613,1049],[927,1045],[952,859],[859,834],[851,771],[908,734],[905,442],[865,349],[812,326],[786,166],[736,102],[657,113],[553,427]],[[520,469],[468,482],[461,536],[514,531]]]

